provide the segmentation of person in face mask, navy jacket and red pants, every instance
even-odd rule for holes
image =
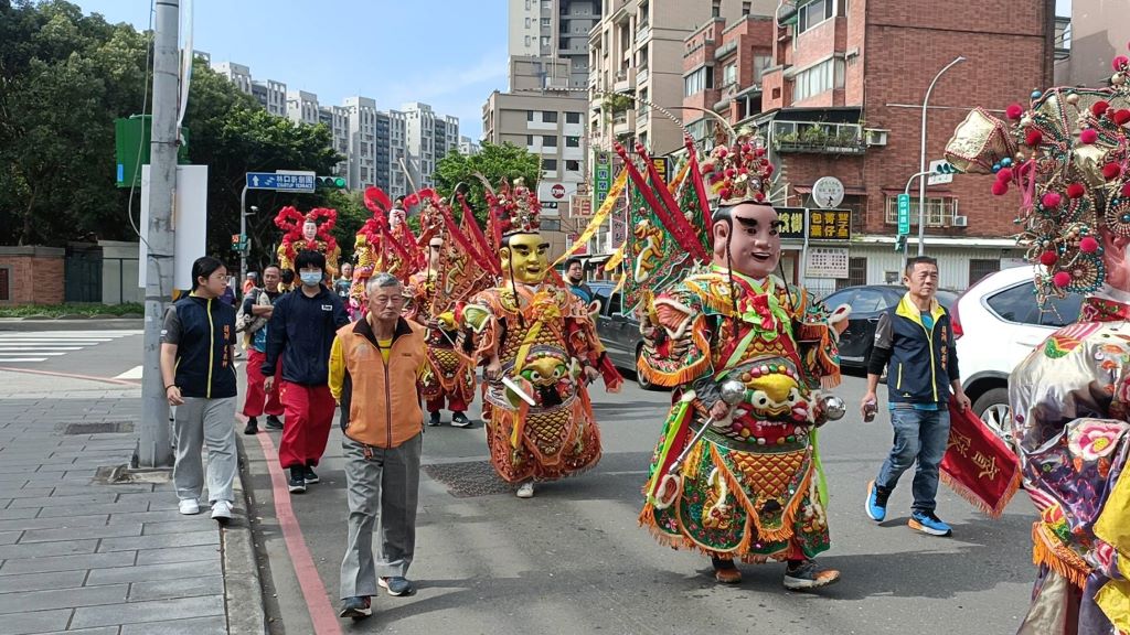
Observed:
[[[290,470],[288,488],[299,494],[319,482],[314,467],[325,452],[333,420],[329,386],[330,347],[338,329],[349,323],[341,298],[323,285],[325,256],[302,251],[295,258],[301,286],[284,295],[267,324],[267,357],[260,366],[263,390],[281,381],[279,397],[286,415],[279,463]],[[282,359],[281,380],[276,376]]]

